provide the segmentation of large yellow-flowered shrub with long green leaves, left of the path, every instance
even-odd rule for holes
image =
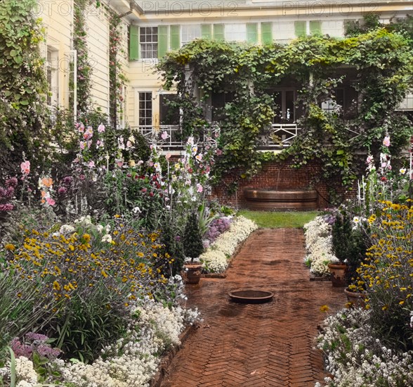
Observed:
[[[27,230],[22,246],[5,246],[5,271],[27,284],[15,288],[16,302],[29,292],[44,311],[27,330],[41,326],[67,357],[92,360],[114,332],[122,334],[133,301],[153,298],[167,281],[159,234],[115,227],[110,239],[93,224],[62,234]]]

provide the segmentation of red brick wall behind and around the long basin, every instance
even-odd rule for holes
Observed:
[[[251,188],[277,188],[280,190],[286,189],[308,189],[311,187],[318,192],[318,207],[320,209],[329,206],[328,183],[320,177],[320,164],[317,162],[310,163],[299,169],[291,167],[291,162],[275,162],[265,163],[263,169],[251,179],[240,179],[236,193],[228,193],[228,183],[231,182],[230,177],[223,177],[223,181],[218,186],[214,187],[212,197],[223,205],[231,205],[235,208],[247,207],[243,195],[243,189]],[[355,191],[346,191],[343,188],[338,189],[338,194],[343,197],[351,197]]]

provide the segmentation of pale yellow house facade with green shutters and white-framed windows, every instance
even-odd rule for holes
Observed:
[[[99,2],[99,1],[98,1]],[[193,39],[266,44],[288,42],[305,34],[343,37],[348,20],[377,13],[383,23],[412,14],[411,0],[376,1],[138,1],[100,0],[122,18],[124,51],[119,55],[129,82],[124,94],[121,125],[159,128],[165,122],[170,91],[162,90],[155,65],[167,51]],[[39,0],[39,17],[46,28],[44,56],[51,87],[51,105],[68,107],[69,79],[76,78],[69,63],[73,50],[74,0]],[[103,113],[109,106],[109,21],[96,1],[86,10],[89,60],[93,68],[91,99]],[[287,91],[286,91],[287,93]],[[282,97],[287,106],[288,93]],[[413,96],[400,107],[413,110]]]

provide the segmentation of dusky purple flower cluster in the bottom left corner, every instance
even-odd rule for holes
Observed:
[[[10,346],[17,357],[24,356],[30,359],[33,353],[37,353],[48,360],[54,360],[62,351],[58,348],[51,348],[47,341],[47,336],[29,332],[25,334],[22,341],[18,337],[13,338]]]

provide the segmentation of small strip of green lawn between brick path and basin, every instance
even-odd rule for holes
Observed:
[[[264,228],[281,228],[281,227],[303,227],[304,224],[313,220],[317,211],[306,212],[270,212],[270,211],[250,211],[240,210],[238,215],[254,220],[258,227]]]

